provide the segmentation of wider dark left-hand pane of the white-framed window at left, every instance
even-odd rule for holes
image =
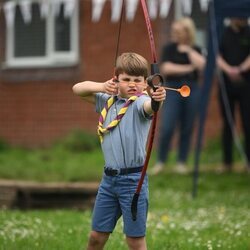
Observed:
[[[44,56],[46,53],[46,23],[40,17],[39,5],[32,4],[32,21],[25,23],[18,6],[15,18],[15,57]]]

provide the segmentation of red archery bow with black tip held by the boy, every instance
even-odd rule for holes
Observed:
[[[153,86],[153,78],[159,76],[159,74],[158,74],[159,73],[159,67],[158,67],[157,57],[156,57],[156,47],[155,47],[155,42],[154,42],[154,35],[153,35],[152,27],[151,27],[151,21],[150,21],[150,18],[149,18],[146,1],[145,0],[140,0],[140,2],[141,2],[144,18],[145,18],[145,23],[147,25],[147,31],[148,31],[148,37],[149,37],[151,55],[152,55],[152,61],[153,61],[151,63],[151,75],[152,75],[151,76],[151,82],[148,82],[148,83],[152,84],[151,87],[153,87],[153,90],[155,91],[156,88]],[[161,82],[161,80],[160,80],[160,82]],[[152,125],[151,125],[151,132],[150,132],[149,141],[148,141],[146,159],[145,159],[144,166],[143,166],[143,169],[142,169],[142,172],[141,172],[141,177],[140,177],[140,180],[138,182],[137,189],[136,189],[136,192],[135,192],[135,194],[133,196],[132,204],[131,204],[132,219],[134,221],[136,220],[136,217],[137,217],[138,199],[139,199],[142,184],[143,184],[146,172],[147,172],[148,163],[149,163],[149,159],[150,159],[151,151],[152,151],[152,147],[153,147],[153,142],[154,142],[154,137],[155,137],[155,128],[156,128],[156,123],[157,123],[157,114],[158,114],[158,109],[159,109],[159,103],[153,102],[152,103],[152,109],[154,111],[154,115],[153,115],[153,120],[152,120]]]

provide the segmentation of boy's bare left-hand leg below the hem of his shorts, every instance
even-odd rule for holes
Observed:
[[[109,238],[110,233],[91,231],[87,250],[101,250]]]

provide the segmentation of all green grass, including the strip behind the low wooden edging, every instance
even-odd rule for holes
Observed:
[[[0,145],[0,178],[99,180],[103,166],[100,149],[96,144],[86,145],[85,136],[76,137],[82,142],[77,146],[71,136],[49,149],[32,151]],[[250,175],[242,171],[218,174],[215,169],[220,165],[220,154],[217,142],[203,151],[195,199],[191,196],[192,175],[172,171],[175,153],[161,175],[150,177],[148,249],[250,249]],[[155,152],[150,167],[154,161]],[[192,161],[191,156],[190,167]],[[90,226],[91,210],[2,209],[0,250],[85,249]],[[127,249],[121,220],[105,249]]]

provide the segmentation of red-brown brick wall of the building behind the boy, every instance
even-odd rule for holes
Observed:
[[[94,108],[72,93],[74,83],[85,79],[103,81],[113,74],[119,24],[110,22],[106,3],[101,20],[91,22],[91,1],[79,1],[80,61],[67,68],[0,68],[0,139],[12,145],[47,146],[74,129],[96,131]],[[165,20],[152,21],[160,54],[168,38],[173,11]],[[0,63],[4,62],[5,20],[0,12]],[[134,51],[151,60],[143,13],[122,24],[119,52]],[[206,137],[218,135],[220,122],[215,90],[208,110]],[[214,123],[216,122],[216,126]]]

